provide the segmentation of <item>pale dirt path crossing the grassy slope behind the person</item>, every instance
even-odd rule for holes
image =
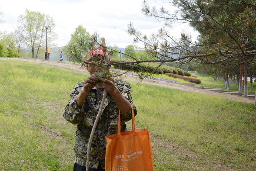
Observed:
[[[34,62],[34,63],[52,65],[52,66],[55,66],[55,67],[58,67],[58,68],[66,68],[66,69],[70,69],[70,70],[75,71],[75,72],[88,73],[86,70],[80,69],[80,66],[66,64],[64,62],[53,62],[53,61],[33,60],[33,59],[24,59],[24,58],[0,58],[0,60],[16,60],[16,61]],[[138,78],[136,76],[126,74],[125,79],[128,80],[128,81],[136,81]],[[229,100],[234,100],[234,101],[243,102],[243,103],[254,103],[255,102],[255,99],[252,98],[252,97],[243,97],[243,96],[234,95],[234,94],[219,93],[219,92],[215,92],[215,91],[203,90],[203,89],[190,87],[190,86],[185,86],[185,85],[181,85],[181,84],[167,83],[166,81],[156,81],[156,80],[147,81],[147,80],[144,80],[144,81],[142,81],[142,83],[143,84],[151,84],[151,85],[160,86],[160,87],[171,88],[171,89],[176,89],[176,90],[197,92],[197,93],[203,93],[203,94],[208,94],[208,95],[213,95],[213,96],[218,96],[218,97],[224,97],[224,98],[229,99]]]

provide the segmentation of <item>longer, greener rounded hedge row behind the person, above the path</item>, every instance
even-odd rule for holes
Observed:
[[[127,62],[129,61],[129,59],[117,59],[117,58],[113,58],[111,59],[112,63],[119,63],[119,62]],[[146,63],[140,63],[138,64],[135,68],[133,68],[133,71],[136,72],[153,72],[159,64],[157,63],[150,63],[150,62],[146,62]],[[115,68],[117,69],[121,69],[121,70],[129,70],[130,68],[132,68],[134,65],[131,64],[118,64],[118,65],[114,65]],[[186,75],[186,76],[190,76],[191,74],[189,72],[183,71],[180,68],[174,68],[174,67],[170,67],[167,65],[161,65],[159,68],[157,68],[156,70],[156,74],[165,74],[165,73],[173,73],[173,74],[179,74],[179,75]]]

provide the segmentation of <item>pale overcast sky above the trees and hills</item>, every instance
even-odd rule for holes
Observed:
[[[134,27],[141,32],[151,35],[163,23],[153,18],[147,18],[141,13],[142,0],[1,0],[0,12],[3,13],[5,23],[0,24],[1,31],[13,32],[17,26],[19,15],[24,15],[25,10],[39,11],[53,17],[56,23],[55,32],[59,37],[55,43],[58,47],[66,45],[80,24],[90,34],[96,30],[110,45],[125,48],[133,44],[133,38],[126,33],[127,25],[132,22]],[[150,6],[166,6],[171,8],[166,1],[149,0]],[[174,11],[173,11],[174,12]],[[197,33],[186,25],[174,27],[171,35],[180,36],[186,29],[196,40]]]

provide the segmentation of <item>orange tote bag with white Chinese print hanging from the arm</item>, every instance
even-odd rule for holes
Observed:
[[[120,112],[116,134],[106,136],[106,171],[153,171],[153,152],[148,129],[120,132]]]

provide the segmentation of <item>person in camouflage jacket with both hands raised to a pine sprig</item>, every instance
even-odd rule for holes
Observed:
[[[89,169],[94,168],[94,171],[97,171],[97,168],[105,168],[105,136],[116,133],[119,110],[121,131],[123,132],[126,131],[126,124],[124,122],[132,118],[131,105],[133,105],[135,115],[136,106],[133,104],[130,94],[131,86],[129,83],[120,80],[106,80],[100,78],[100,81],[103,81],[102,85],[96,85],[97,80],[94,76],[96,69],[87,68],[87,70],[91,75],[87,77],[85,81],[74,86],[70,94],[71,99],[66,105],[63,117],[70,123],[77,124],[74,149],[75,166],[78,164],[79,167],[85,167],[90,133],[102,98],[98,88],[104,88],[108,92],[103,104],[103,113],[97,123],[91,144]]]

